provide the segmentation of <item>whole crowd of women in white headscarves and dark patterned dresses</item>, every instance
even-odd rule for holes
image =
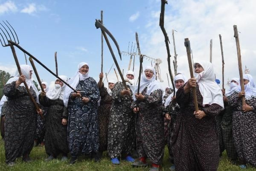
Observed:
[[[224,149],[233,164],[256,166],[256,88],[249,74],[241,81],[244,91],[239,78],[233,78],[225,92],[215,82],[212,64],[196,62],[195,78],[175,76],[173,96],[169,88],[163,90],[154,68],[148,66],[140,87],[133,71],[126,72],[125,82],[110,80],[105,86],[103,74],[97,83],[89,75],[89,64],[81,62],[72,78],[59,76],[76,91],[57,78],[52,89],[42,82],[41,92],[32,81],[32,68],[20,68],[23,75],[9,79],[0,102],[9,166],[18,157],[29,162],[34,142],[44,142],[45,161],[60,154],[66,161],[70,154],[70,164],[84,154],[99,162],[107,151],[112,164],[124,159],[134,167],[145,167],[150,162],[150,171],[158,171],[167,143],[170,170],[217,171]],[[40,110],[30,99],[25,81]]]

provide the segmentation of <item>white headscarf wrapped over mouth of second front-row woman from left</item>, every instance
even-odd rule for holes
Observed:
[[[67,82],[68,81],[68,78],[67,76],[65,75],[59,75],[59,77]],[[55,79],[55,82],[56,80],[58,80],[58,78]],[[55,84],[55,87],[51,90],[49,90],[47,93],[46,93],[46,96],[51,99],[51,100],[55,100],[55,99],[61,99],[63,100],[63,96],[64,96],[64,91],[65,91],[65,88],[67,87],[66,84],[63,84],[62,87],[60,84]]]

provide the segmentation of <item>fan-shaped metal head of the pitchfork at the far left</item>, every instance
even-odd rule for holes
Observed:
[[[6,22],[3,21],[3,23],[0,23],[0,42],[3,47],[6,47],[11,45],[9,41],[13,41],[16,44],[20,43],[15,30],[13,29],[11,24],[6,20]]]

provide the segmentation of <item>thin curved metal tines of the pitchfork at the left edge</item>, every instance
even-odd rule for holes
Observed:
[[[17,34],[16,34],[16,32],[15,32],[15,30],[13,29],[13,27],[12,27],[12,25],[6,20],[6,22],[9,24],[9,26],[12,28],[12,30],[13,30],[13,32],[15,33],[15,35],[13,35],[13,32],[12,32],[12,30],[10,29],[10,27],[3,21],[3,23],[7,26],[7,28],[10,30],[10,32],[11,32],[11,34],[12,34],[12,37],[13,37],[13,39],[14,39],[14,42],[15,43],[17,43],[17,44],[19,44],[20,42],[19,42],[19,39],[18,39],[18,37],[17,37]],[[3,27],[3,29],[6,31],[6,33],[7,33],[7,35],[9,36],[9,40],[10,41],[12,41],[12,37],[11,37],[11,35],[9,34],[9,32],[7,31],[7,29],[5,28],[5,26],[3,26],[3,24],[2,23],[0,23],[0,25]],[[1,33],[0,32],[0,35],[1,35],[1,37],[2,37],[2,39],[3,40],[1,40],[1,38],[0,38],[0,42],[1,42],[1,44],[2,44],[2,46],[3,47],[6,47],[6,46],[10,46],[10,43],[8,42],[8,38],[7,38],[7,36],[6,36],[6,33],[3,31],[3,29],[1,28],[1,26],[0,26],[0,29],[1,29],[1,31],[3,32],[3,33]],[[3,36],[3,35],[4,36]],[[6,41],[8,42],[8,44],[6,44],[6,41],[5,41],[5,38],[6,38]],[[15,39],[15,37],[17,38],[17,41],[16,41],[16,39]]]

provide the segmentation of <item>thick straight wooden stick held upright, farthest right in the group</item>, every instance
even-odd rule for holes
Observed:
[[[241,50],[240,50],[240,43],[239,43],[239,36],[237,31],[237,26],[234,25],[234,37],[236,38],[236,51],[237,51],[237,58],[238,58],[238,68],[239,68],[239,75],[240,75],[240,84],[241,90],[244,91],[244,77],[243,77],[243,69],[242,69],[242,61],[241,61]],[[245,97],[242,97],[242,105],[245,106]]]

